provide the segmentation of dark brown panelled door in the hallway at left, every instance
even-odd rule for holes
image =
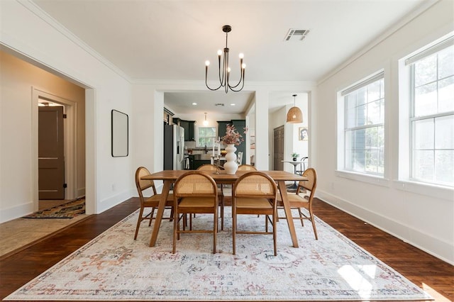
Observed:
[[[65,199],[63,106],[38,107],[40,199]]]

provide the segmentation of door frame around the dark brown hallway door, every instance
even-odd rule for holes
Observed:
[[[65,199],[77,198],[77,103],[55,96],[48,92],[42,91],[32,86],[31,98],[31,126],[32,126],[32,195],[33,210],[38,211],[38,103],[39,99],[45,99],[52,103],[61,104],[65,107],[64,111],[67,116],[63,120],[64,139],[64,156],[65,156]]]

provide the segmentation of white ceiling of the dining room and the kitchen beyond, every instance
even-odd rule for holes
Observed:
[[[238,80],[238,54],[243,52],[246,81],[267,82],[322,79],[423,0],[33,2],[132,80],[201,81],[206,60],[211,61],[210,79],[216,79],[216,51],[225,46],[222,26],[228,24],[232,26],[228,34],[231,78]],[[286,42],[290,28],[310,33],[302,41]],[[223,113],[239,113],[251,98],[250,93],[207,92],[211,91],[165,94],[165,103],[175,111],[194,110],[184,104],[196,99],[211,107],[225,103]],[[282,91],[276,95],[279,101],[270,98],[270,106],[292,104],[294,92]],[[237,105],[229,106],[231,103]],[[218,109],[199,105],[197,111]]]

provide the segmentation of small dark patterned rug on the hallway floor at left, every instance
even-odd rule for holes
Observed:
[[[63,203],[60,206],[53,206],[23,218],[73,218],[85,213],[85,198]]]

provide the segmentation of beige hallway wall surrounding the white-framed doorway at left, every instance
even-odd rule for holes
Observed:
[[[13,175],[15,162],[31,162],[32,133],[32,87],[52,94],[61,99],[77,103],[77,176],[76,192],[83,194],[85,189],[85,89],[65,79],[56,77],[39,67],[29,64],[6,52],[0,51],[0,87],[1,87],[1,141],[2,141],[2,177]],[[18,139],[20,138],[20,139]],[[11,160],[9,160],[11,159]],[[10,171],[10,173],[9,173]],[[24,178],[31,177],[30,171],[23,171]],[[18,179],[11,179],[17,181]],[[28,184],[28,181],[24,181]],[[24,188],[30,191],[31,188]],[[16,206],[16,203],[31,203],[30,195],[15,192],[8,188],[1,190],[2,208]],[[32,194],[33,196],[33,194]]]

